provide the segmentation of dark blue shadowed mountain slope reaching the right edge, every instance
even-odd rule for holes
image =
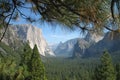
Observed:
[[[106,33],[105,37],[98,43],[91,45],[84,54],[84,57],[96,57],[104,50],[115,52],[120,50],[120,33]]]

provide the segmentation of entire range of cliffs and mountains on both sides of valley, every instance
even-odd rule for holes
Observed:
[[[4,29],[0,33],[3,31]],[[13,49],[19,49],[25,42],[28,42],[31,48],[36,44],[41,55],[56,57],[96,57],[105,49],[109,52],[120,51],[120,33],[108,32],[105,35],[88,33],[85,38],[60,42],[57,47],[53,46],[53,52],[42,36],[41,29],[30,24],[9,26],[2,42]],[[2,48],[0,50],[6,53]]]

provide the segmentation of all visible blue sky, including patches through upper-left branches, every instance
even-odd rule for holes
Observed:
[[[27,6],[29,7],[30,5]],[[34,18],[40,17],[35,14],[32,14],[28,9],[23,8],[20,10],[22,13],[26,14],[27,16]],[[41,22],[29,23],[22,18],[19,18],[17,21],[11,21],[11,24],[32,24],[33,26],[42,29],[43,37],[45,38],[45,40],[49,45],[58,44],[60,42],[65,42],[67,40],[78,38],[81,36],[79,30],[70,31],[63,28],[62,25],[50,25],[48,23],[41,23]]]

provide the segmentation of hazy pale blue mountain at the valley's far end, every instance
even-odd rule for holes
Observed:
[[[68,40],[64,43],[60,42],[54,51],[55,55],[59,57],[72,57],[74,45],[77,40],[78,38]]]

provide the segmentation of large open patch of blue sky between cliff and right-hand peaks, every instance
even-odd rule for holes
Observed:
[[[49,24],[37,24],[37,26],[42,29],[44,38],[51,45],[59,42],[65,42],[73,38],[78,38],[80,36],[79,31],[66,30],[64,28],[61,28],[63,26],[60,25],[54,26]]]

